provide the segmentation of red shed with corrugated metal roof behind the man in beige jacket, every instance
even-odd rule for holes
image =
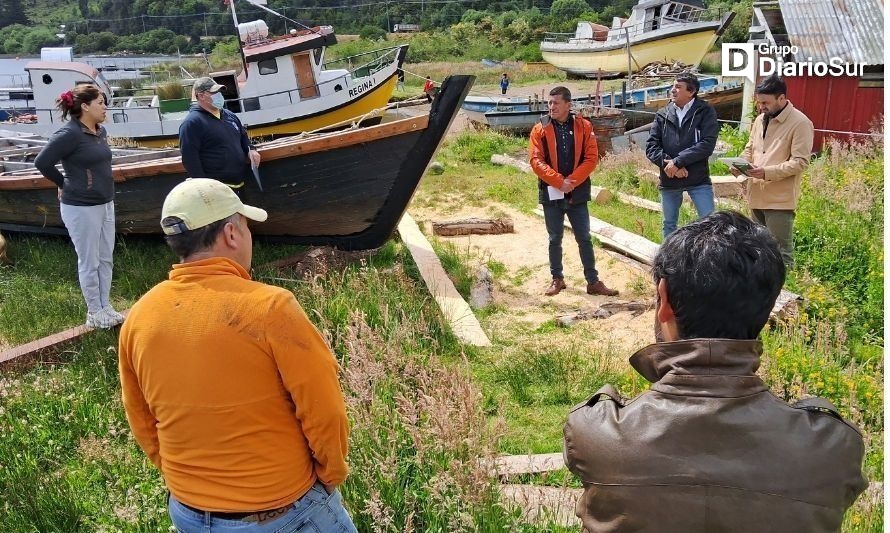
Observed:
[[[748,42],[777,62],[795,63],[783,75],[788,99],[817,130],[866,133],[884,114],[884,6],[882,0],[755,2]],[[842,65],[825,72],[821,64]],[[809,67],[807,66],[809,65]],[[750,106],[754,85],[748,84]],[[742,116],[749,116],[750,107]],[[814,150],[826,136],[816,132]]]

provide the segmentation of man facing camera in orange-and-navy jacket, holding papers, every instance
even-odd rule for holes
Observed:
[[[529,139],[529,162],[538,176],[538,201],[544,208],[544,223],[550,237],[550,274],[553,281],[544,292],[555,296],[566,288],[562,273],[563,221],[568,216],[578,243],[587,294],[617,296],[596,271],[590,241],[590,173],[599,161],[593,126],[571,113],[572,93],[555,87],[547,101],[550,114],[535,124]]]

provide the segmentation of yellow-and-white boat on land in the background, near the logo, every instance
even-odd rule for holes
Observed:
[[[589,78],[626,74],[628,63],[633,71],[656,61],[698,66],[734,16],[711,12],[701,0],[640,0],[611,28],[582,21],[573,34],[546,34],[541,55],[570,75]]]

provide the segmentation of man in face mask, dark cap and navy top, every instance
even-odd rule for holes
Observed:
[[[259,166],[260,153],[235,113],[225,108],[222,88],[211,78],[195,81],[195,103],[179,126],[179,150],[189,177],[217,179],[239,192],[247,164]]]

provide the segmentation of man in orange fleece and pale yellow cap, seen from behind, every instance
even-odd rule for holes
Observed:
[[[133,306],[119,369],[173,525],[355,531],[337,491],[349,433],[337,361],[290,291],[250,279],[248,220],[266,212],[205,178],[177,185],[162,217],[182,262]]]

